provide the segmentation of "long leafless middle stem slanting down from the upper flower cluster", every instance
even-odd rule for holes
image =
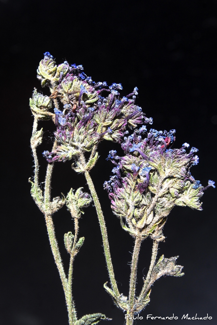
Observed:
[[[91,179],[88,171],[85,171],[85,177],[86,177],[88,187],[90,189],[90,193],[92,195],[92,198],[93,198],[93,201],[94,201],[94,204],[95,204],[95,207],[96,207],[96,212],[97,212],[99,223],[100,223],[100,228],[101,228],[101,233],[102,233],[102,241],[103,241],[103,247],[104,247],[104,253],[105,253],[105,259],[106,259],[108,272],[109,272],[109,278],[110,278],[111,285],[112,285],[112,288],[113,288],[115,294],[117,296],[119,296],[120,293],[118,291],[117,284],[116,284],[116,281],[115,281],[115,274],[114,274],[111,254],[110,254],[110,250],[109,250],[107,229],[106,229],[106,226],[105,226],[105,220],[104,220],[104,216],[103,216],[103,213],[102,213],[101,205],[100,205],[98,196],[96,194],[96,190],[94,188],[92,179]]]

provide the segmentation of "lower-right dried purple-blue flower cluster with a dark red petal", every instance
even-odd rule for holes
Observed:
[[[173,206],[202,210],[199,199],[205,188],[189,171],[198,163],[196,148],[186,152],[189,144],[184,143],[180,149],[171,149],[175,130],[146,131],[142,126],[124,138],[124,157],[117,156],[115,150],[109,152],[107,159],[115,164],[115,175],[104,183],[104,189],[125,230],[134,237],[141,233],[162,240],[161,229]],[[211,180],[206,188],[210,186],[214,187]]]

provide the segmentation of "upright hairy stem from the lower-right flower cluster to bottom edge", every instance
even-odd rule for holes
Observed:
[[[132,256],[132,263],[131,263],[131,273],[130,273],[130,282],[129,282],[129,305],[130,310],[127,313],[130,315],[127,318],[127,325],[133,324],[134,316],[134,300],[135,300],[135,290],[136,290],[136,274],[137,274],[137,265],[139,259],[139,251],[141,246],[142,238],[137,236],[135,239],[134,249],[133,249],[133,256]]]

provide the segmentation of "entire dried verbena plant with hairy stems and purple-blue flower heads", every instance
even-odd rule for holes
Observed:
[[[214,186],[209,180],[203,187],[194,179],[189,169],[197,165],[196,148],[189,148],[184,143],[181,149],[171,149],[175,141],[175,130],[149,132],[145,124],[152,124],[152,118],[145,117],[142,109],[135,104],[137,87],[126,97],[121,98],[121,84],[107,86],[106,82],[95,83],[87,77],[81,65],[69,65],[67,61],[57,66],[49,52],[44,54],[38,70],[38,79],[42,87],[48,86],[51,95],[44,96],[34,89],[30,98],[30,108],[34,115],[31,148],[34,157],[34,179],[32,197],[45,215],[47,232],[51,250],[57,265],[68,308],[70,325],[97,324],[101,319],[108,319],[101,313],[83,316],[77,319],[75,303],[72,296],[72,274],[75,255],[84,242],[78,239],[79,218],[83,208],[93,200],[102,232],[104,253],[111,287],[104,284],[105,290],[111,295],[115,304],[127,312],[126,324],[132,325],[135,314],[138,314],[150,301],[151,286],[162,275],[180,277],[182,266],[176,265],[178,256],[158,260],[157,248],[159,241],[165,239],[162,228],[174,205],[189,206],[201,210],[199,201],[208,187]],[[102,94],[108,95],[102,97]],[[104,96],[105,96],[104,95]],[[38,130],[38,121],[52,119],[56,125],[54,143],[51,152],[44,151],[47,159],[47,172],[44,192],[39,186],[39,163],[37,147],[42,143],[43,130]],[[142,124],[137,128],[138,124]],[[129,131],[132,134],[126,136]],[[121,144],[124,151],[122,157],[111,150],[108,160],[115,164],[113,176],[105,181],[104,188],[108,191],[112,202],[112,211],[120,219],[121,227],[134,239],[134,250],[131,262],[129,296],[119,292],[115,281],[107,230],[101,205],[89,175],[99,155],[98,145],[102,140],[110,140]],[[51,178],[54,162],[65,162],[73,159],[72,168],[85,175],[91,195],[84,193],[82,188],[75,192],[71,188],[65,197],[51,199]],[[75,186],[75,185],[73,185]],[[68,275],[66,274],[58,243],[52,215],[66,204],[74,219],[75,232],[64,235],[64,243],[70,254]],[[135,295],[137,264],[140,246],[143,240],[150,237],[153,249],[150,267],[144,279],[139,296]]]

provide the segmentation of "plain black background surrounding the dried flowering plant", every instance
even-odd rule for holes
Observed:
[[[58,271],[47,238],[44,217],[30,196],[33,175],[30,136],[33,117],[29,98],[41,89],[36,69],[49,51],[57,63],[82,64],[96,82],[121,82],[127,95],[137,86],[138,105],[153,117],[158,130],[175,128],[176,147],[184,142],[199,149],[199,165],[192,174],[206,186],[216,177],[216,31],[217,1],[26,1],[0,0],[1,24],[1,235],[0,324],[66,325],[67,311]],[[48,89],[44,89],[44,94]],[[51,122],[41,123],[45,140],[38,149],[41,179],[46,162],[41,152],[51,148]],[[48,132],[47,130],[50,130]],[[91,171],[105,214],[111,255],[120,292],[128,295],[129,262],[133,240],[113,215],[102,184],[109,179],[108,151],[119,145],[103,141],[100,159]],[[56,163],[52,195],[71,187],[88,190],[83,175],[71,162]],[[43,184],[42,184],[43,186]],[[203,324],[216,324],[216,189],[203,197],[203,211],[175,207],[164,227],[160,254],[180,255],[182,278],[159,279],[151,301],[140,316],[178,316],[178,320],[144,323],[186,324],[183,314],[212,316]],[[63,234],[73,231],[66,208],[54,215],[64,265],[69,256]],[[73,294],[78,316],[101,312],[124,323],[103,289],[108,280],[102,238],[94,207],[80,221],[85,243],[75,259]],[[142,244],[138,292],[148,270],[151,240]],[[142,274],[143,273],[143,274]],[[198,322],[198,321],[197,321]]]

